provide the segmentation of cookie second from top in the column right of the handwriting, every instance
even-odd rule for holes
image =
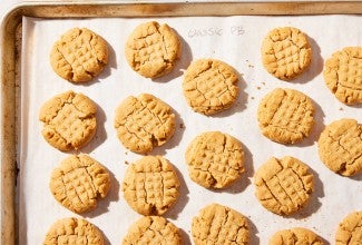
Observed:
[[[273,141],[295,144],[306,138],[314,125],[311,99],[294,89],[276,88],[268,92],[257,108],[262,134]]]

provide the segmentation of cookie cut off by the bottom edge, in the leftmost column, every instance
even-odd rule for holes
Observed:
[[[88,244],[104,245],[99,229],[86,219],[62,218],[49,228],[43,245]]]

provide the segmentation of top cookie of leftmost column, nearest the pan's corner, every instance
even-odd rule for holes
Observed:
[[[107,42],[87,28],[74,28],[56,41],[50,65],[61,78],[85,82],[97,77],[108,62]]]

